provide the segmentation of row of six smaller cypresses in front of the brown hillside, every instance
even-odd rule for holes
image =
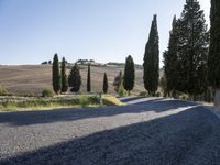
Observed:
[[[135,79],[135,68],[134,68],[134,62],[131,55],[129,55],[125,59],[125,66],[124,66],[124,76],[123,76],[123,88],[130,91],[134,87],[134,79]],[[79,72],[79,66],[77,63],[73,66],[69,76],[66,75],[66,61],[63,57],[62,61],[62,70],[59,73],[59,61],[58,55],[54,55],[53,59],[53,89],[56,94],[66,92],[68,90],[68,87],[70,87],[70,91],[78,92],[80,90],[81,86],[81,76]],[[103,86],[102,90],[105,94],[108,92],[108,77],[107,73],[103,75]],[[88,74],[87,74],[87,91],[91,91],[91,70],[90,65],[88,65]]]

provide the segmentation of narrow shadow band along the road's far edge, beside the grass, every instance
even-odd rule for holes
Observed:
[[[170,109],[195,106],[179,100],[145,101],[123,107],[102,107],[86,109],[61,109],[46,111],[6,112],[0,113],[0,123],[13,125],[29,125],[59,121],[73,121],[86,118],[111,117],[122,113],[140,113],[144,111],[164,112]]]

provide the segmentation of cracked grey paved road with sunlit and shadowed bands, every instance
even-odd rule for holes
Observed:
[[[0,113],[0,164],[219,165],[212,112],[178,100],[138,102]]]

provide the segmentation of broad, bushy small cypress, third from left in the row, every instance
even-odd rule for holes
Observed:
[[[74,67],[70,70],[69,77],[68,77],[68,84],[69,87],[72,87],[73,92],[78,92],[81,86],[81,76],[79,73],[79,67],[77,64],[74,65]]]

